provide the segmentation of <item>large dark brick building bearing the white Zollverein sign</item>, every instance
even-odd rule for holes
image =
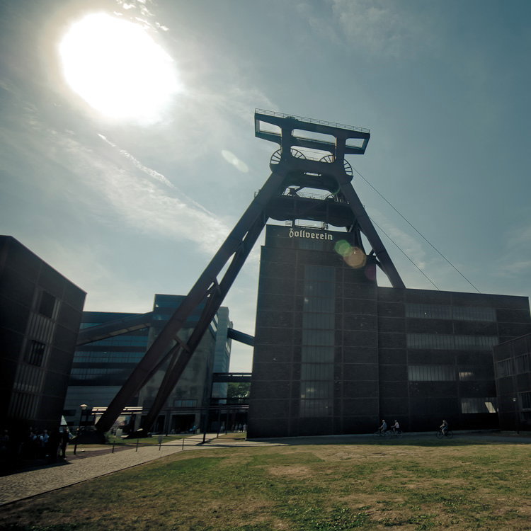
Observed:
[[[267,227],[249,437],[497,428],[492,348],[531,331],[527,297],[378,287],[354,236]]]

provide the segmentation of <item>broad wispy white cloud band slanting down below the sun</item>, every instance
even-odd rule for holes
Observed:
[[[64,195],[74,194],[86,212],[96,208],[93,197],[97,196],[96,215],[100,222],[118,217],[132,229],[193,241],[207,253],[216,250],[229,233],[229,227],[212,212],[188,202],[161,173],[139,163],[134,156],[121,153],[131,164],[117,164],[71,134],[46,127],[28,108],[26,113],[27,127],[33,132],[40,130],[39,142],[24,144],[28,157],[61,167],[64,178],[69,179],[68,187],[57,181],[46,183],[47,189],[53,185]],[[105,202],[110,205],[110,212],[102,207]]]

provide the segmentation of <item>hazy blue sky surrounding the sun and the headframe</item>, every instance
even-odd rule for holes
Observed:
[[[154,293],[188,292],[269,175],[275,145],[254,137],[255,108],[370,128],[366,154],[349,157],[355,170],[479,291],[530,294],[530,2],[35,0],[0,10],[0,233],[86,290],[87,310],[147,312]],[[178,90],[156,118],[102,113],[67,83],[59,42],[90,13],[139,25],[168,55]],[[439,289],[474,291],[370,185],[353,184]],[[434,289],[381,236],[406,286]],[[224,303],[246,333],[258,253]],[[250,370],[251,355],[234,345],[232,370]]]

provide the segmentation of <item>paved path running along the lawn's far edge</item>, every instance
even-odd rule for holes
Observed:
[[[489,433],[459,433],[459,439],[467,438],[469,440],[489,440],[490,442],[506,442],[509,444],[531,443],[531,437],[525,435],[497,435]],[[456,434],[457,434],[456,433]],[[433,437],[433,433],[416,433],[407,435]],[[351,440],[360,440],[360,438],[372,437],[372,435],[328,435],[323,437],[308,438],[279,438],[269,440],[234,440],[217,438],[215,433],[206,435],[206,443],[202,444],[203,435],[193,435],[185,438],[184,446],[177,441],[166,442],[161,445],[139,446],[137,450],[132,447],[120,452],[111,453],[110,450],[101,452],[91,452],[91,455],[84,457],[69,457],[67,461],[55,465],[42,467],[39,469],[18,472],[9,476],[0,477],[0,506],[13,501],[22,500],[37,496],[48,491],[61,489],[62,487],[81,483],[87,479],[93,479],[98,476],[105,476],[118,472],[118,470],[136,467],[138,464],[154,461],[160,457],[166,457],[177,452],[185,450],[198,450],[199,448],[212,447],[253,447],[253,446],[271,446],[271,445],[301,445],[301,444],[348,444]]]

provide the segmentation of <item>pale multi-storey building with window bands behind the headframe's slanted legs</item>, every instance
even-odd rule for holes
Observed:
[[[153,311],[149,314],[84,312],[82,329],[113,322],[123,324],[127,323],[127,318],[141,318],[142,315],[145,316],[146,326],[76,348],[67,399],[64,403],[64,415],[70,425],[79,424],[81,404],[88,406],[87,411],[93,408],[106,408],[110,404],[184,298],[182,295],[157,294],[154,297]],[[201,310],[202,307],[198,307],[189,316],[185,327],[179,334],[181,338],[188,338],[192,333],[198,323]],[[195,355],[166,401],[152,428],[154,432],[172,430],[179,432],[190,430],[193,426],[200,426],[213,385],[220,386],[219,389],[215,389],[218,393],[225,391],[224,395],[218,394],[217,396],[226,396],[227,384],[212,384],[212,374],[229,370],[231,340],[227,337],[227,333],[230,327],[232,323],[229,321],[229,309],[219,308]],[[159,390],[165,367],[163,365],[155,373],[139,394],[130,399],[126,407],[141,408],[146,413]],[[86,419],[85,423],[92,423],[92,421],[92,418]],[[135,428],[139,428],[141,416],[131,418],[126,415],[121,421],[134,423]]]

